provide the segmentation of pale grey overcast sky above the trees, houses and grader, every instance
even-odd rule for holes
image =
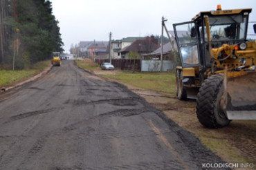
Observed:
[[[161,18],[168,30],[172,23],[190,21],[200,11],[253,8],[250,21],[256,21],[255,0],[51,0],[53,15],[60,21],[64,50],[80,41],[109,41],[124,37],[161,35]],[[249,34],[253,34],[250,23]],[[166,36],[166,35],[165,35]]]

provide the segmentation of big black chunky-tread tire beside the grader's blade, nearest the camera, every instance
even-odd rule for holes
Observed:
[[[196,115],[203,126],[217,129],[230,123],[220,106],[222,95],[223,77],[221,75],[212,75],[205,79],[196,100]]]

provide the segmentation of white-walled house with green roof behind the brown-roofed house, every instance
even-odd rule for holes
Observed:
[[[119,51],[122,48],[130,46],[134,41],[138,39],[144,39],[144,37],[127,37],[123,39],[111,41],[111,57],[112,59],[120,59],[121,55]]]

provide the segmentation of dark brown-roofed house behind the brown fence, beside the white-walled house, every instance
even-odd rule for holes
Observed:
[[[122,59],[129,59],[129,52],[136,51],[139,55],[152,53],[159,47],[158,40],[151,37],[145,37],[144,39],[137,39],[131,45],[122,48],[118,52],[120,53]]]

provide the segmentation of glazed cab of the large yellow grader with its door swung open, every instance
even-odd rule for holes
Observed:
[[[217,11],[201,12],[192,21],[174,23],[174,32],[183,68],[211,67],[210,58],[203,57],[209,56],[209,38],[212,48],[246,41],[250,10],[223,10],[221,12],[221,15],[218,15]],[[205,16],[209,21],[210,37],[207,35]]]

